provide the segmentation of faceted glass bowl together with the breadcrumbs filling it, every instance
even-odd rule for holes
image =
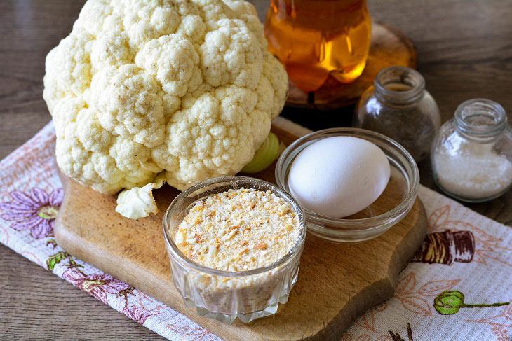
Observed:
[[[201,316],[248,323],[274,314],[297,281],[299,204],[259,179],[224,176],[184,190],[163,217],[175,287]]]

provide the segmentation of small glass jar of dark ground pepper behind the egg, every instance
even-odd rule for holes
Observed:
[[[353,127],[391,137],[419,162],[429,155],[440,121],[423,76],[408,67],[388,67],[359,99]]]

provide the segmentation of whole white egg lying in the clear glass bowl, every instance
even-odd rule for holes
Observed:
[[[302,150],[288,174],[290,193],[302,207],[331,218],[370,206],[389,181],[389,160],[370,141],[328,137]]]

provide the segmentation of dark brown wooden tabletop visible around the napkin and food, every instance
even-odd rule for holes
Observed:
[[[260,19],[268,0],[252,1]],[[443,122],[466,99],[493,99],[512,120],[511,0],[368,0],[374,20],[410,36]],[[0,1],[0,159],[50,120],[44,59],[69,34],[83,0]],[[349,115],[342,112],[340,114]],[[292,118],[287,111],[288,118]],[[428,161],[422,183],[437,190]],[[1,172],[1,169],[0,169]],[[512,224],[512,191],[469,205]],[[87,293],[0,246],[1,340],[163,340]]]

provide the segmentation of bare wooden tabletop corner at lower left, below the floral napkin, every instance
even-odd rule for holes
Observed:
[[[2,246],[0,340],[166,340]]]

